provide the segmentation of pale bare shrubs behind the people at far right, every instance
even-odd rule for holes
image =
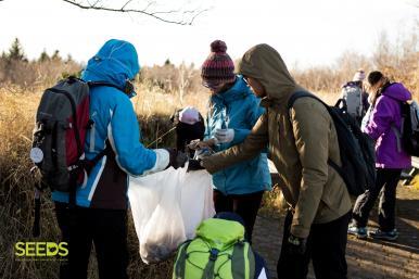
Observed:
[[[314,91],[339,91],[342,84],[352,79],[354,73],[364,68],[367,73],[379,69],[392,80],[402,81],[411,92],[419,92],[418,35],[390,43],[385,34],[378,40],[370,56],[347,51],[332,65],[293,69],[295,79]]]

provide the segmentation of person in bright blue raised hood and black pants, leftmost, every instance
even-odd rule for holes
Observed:
[[[85,156],[93,160],[107,151],[78,187],[74,210],[69,208],[67,193],[52,193],[62,238],[68,241],[68,261],[61,265],[61,278],[87,278],[92,243],[101,279],[128,278],[128,176],[178,166],[175,151],[150,150],[140,142],[139,124],[129,100],[135,96],[130,80],[139,69],[135,47],[111,39],[82,73],[85,81],[110,85],[90,88],[92,126],[87,131]]]

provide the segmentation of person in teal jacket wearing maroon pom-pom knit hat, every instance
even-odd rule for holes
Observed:
[[[264,113],[261,100],[243,77],[234,75],[233,62],[226,51],[224,41],[212,42],[201,73],[203,85],[212,91],[205,140],[215,143],[212,148],[216,152],[241,143]],[[239,214],[251,241],[263,193],[271,189],[267,154],[214,174],[213,185],[215,211]]]

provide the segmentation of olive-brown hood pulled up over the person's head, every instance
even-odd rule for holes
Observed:
[[[292,92],[302,89],[292,78],[278,51],[266,43],[247,50],[238,63],[237,72],[259,80],[267,99],[275,103],[284,103]]]

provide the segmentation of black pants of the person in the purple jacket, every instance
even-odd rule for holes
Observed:
[[[379,226],[382,231],[395,228],[396,188],[402,169],[378,168],[376,185],[358,196],[355,202],[352,218],[357,227],[366,227],[369,213],[377,198],[379,203]]]

